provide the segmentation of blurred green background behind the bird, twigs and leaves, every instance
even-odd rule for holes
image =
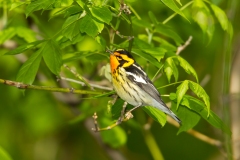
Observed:
[[[3,1],[0,2],[4,3]],[[157,15],[160,22],[173,13],[156,0],[129,0],[127,2],[146,21],[150,21],[146,14],[150,10]],[[188,1],[182,0],[181,2],[185,4]],[[210,96],[211,109],[222,119],[225,119],[228,112],[223,107],[223,100],[228,98],[228,95],[223,93],[223,86],[225,86],[226,81],[224,68],[233,64],[226,63],[226,55],[231,54],[231,58],[235,61],[240,58],[238,56],[240,4],[238,0],[213,0],[212,2],[227,13],[233,24],[234,37],[229,53],[226,45],[228,42],[227,34],[218,23],[215,25],[214,35],[209,43],[200,27],[193,21],[189,23],[182,17],[176,16],[168,25],[174,28],[185,41],[190,35],[193,36],[191,44],[181,53],[181,56],[196,70],[200,83]],[[4,12],[3,8],[0,9],[0,12],[1,14]],[[19,14],[9,12],[9,20],[15,24],[31,24],[32,19],[25,20],[24,14],[20,13],[21,11],[19,11]],[[44,31],[45,34],[54,35],[60,29],[59,26],[62,25],[64,19],[56,17],[48,21],[50,14],[50,11],[34,13],[39,21],[38,29]],[[185,14],[190,13],[186,11]],[[3,24],[2,20],[0,19],[0,24]],[[120,25],[119,30],[122,34],[129,32],[129,28],[124,23]],[[144,31],[134,30],[134,34],[141,32]],[[107,37],[107,32],[103,32],[102,36]],[[18,41],[21,44],[21,38],[19,37],[15,37],[13,41]],[[8,41],[10,44],[11,42]],[[0,46],[0,55],[9,50],[6,45]],[[73,47],[77,50],[104,51],[104,48],[101,48],[91,38],[85,38]],[[31,52],[26,54],[29,55]],[[147,70],[149,76],[153,77],[157,68],[136,55],[134,57]],[[21,55],[1,56],[0,78],[15,80],[25,59],[26,56]],[[106,78],[100,75],[101,67],[107,63],[108,59],[105,56],[97,58],[88,56],[80,61],[68,63],[68,65],[76,67],[80,75],[91,81],[109,84]],[[74,77],[66,69],[62,68],[62,70],[62,75],[69,78]],[[179,80],[192,78],[187,76],[182,70]],[[155,82],[156,86],[166,84],[168,82],[165,75]],[[43,62],[34,85],[86,89],[74,83],[57,82],[55,76],[49,72]],[[174,88],[164,88],[160,91],[162,94],[168,94],[174,92]],[[37,90],[22,92],[17,88],[0,84],[0,152],[9,154],[14,160],[146,160],[153,159],[152,148],[149,147],[153,144],[149,138],[154,138],[153,140],[158,146],[157,149],[161,151],[166,160],[227,159],[226,151],[223,148],[219,149],[211,146],[188,133],[176,135],[178,129],[170,124],[161,127],[157,122],[153,122],[150,131],[143,131],[142,127],[149,121],[149,116],[141,109],[134,111],[134,119],[121,124],[121,127],[111,131],[95,133],[91,130],[94,127],[91,116],[95,111],[100,115],[100,124],[111,124],[109,119],[104,118],[104,116],[110,117],[110,113],[107,112],[107,103],[111,100],[111,97],[91,100],[84,98],[85,96],[70,93],[50,93]],[[226,118],[227,120],[228,118]],[[224,143],[222,132],[211,127],[204,120],[201,120],[194,129]],[[109,139],[111,137],[112,139],[104,139],[104,137],[109,137]],[[154,146],[152,147],[154,148]]]

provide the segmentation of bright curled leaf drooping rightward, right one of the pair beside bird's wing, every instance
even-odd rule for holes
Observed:
[[[207,95],[205,90],[198,83],[195,83],[195,82],[192,82],[192,81],[189,81],[189,87],[198,97],[203,99],[205,105],[207,106],[208,116],[209,116],[209,114],[210,114],[210,100],[209,100],[209,96]]]

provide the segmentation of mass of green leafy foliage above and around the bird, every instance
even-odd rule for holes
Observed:
[[[21,67],[17,67],[17,82],[29,85],[39,83],[38,80],[41,81],[39,74],[43,74],[49,80],[40,84],[59,85],[53,82],[55,76],[72,76],[63,68],[63,64],[76,66],[81,77],[89,77],[87,79],[91,81],[103,79],[96,75],[97,64],[101,64],[101,67],[105,67],[105,77],[109,78],[107,69],[109,66],[102,65],[102,62],[107,64],[108,61],[108,53],[105,50],[126,48],[134,54],[139,64],[148,62],[155,67],[153,71],[149,69],[149,75],[156,77],[158,73],[164,74],[165,79],[170,83],[169,86],[181,83],[175,86],[176,93],[168,91],[171,93],[168,97],[172,109],[183,122],[178,133],[192,129],[202,117],[210,125],[231,134],[229,128],[210,109],[210,98],[199,84],[197,71],[191,62],[183,56],[176,55],[178,47],[184,44],[185,38],[176,27],[171,24],[167,25],[169,21],[174,21],[172,18],[177,15],[180,15],[184,23],[196,22],[203,32],[206,44],[210,44],[216,22],[220,23],[221,28],[228,33],[230,38],[233,36],[231,23],[225,12],[212,2],[204,0],[182,2],[177,0],[176,2],[174,0],[154,1],[157,9],[162,7],[168,12],[173,11],[173,14],[164,17],[166,20],[161,22],[154,11],[148,11],[148,14],[138,11],[135,4],[138,2],[126,1],[129,6],[126,7],[123,4],[124,1],[120,1],[119,4],[117,0],[7,0],[0,6],[5,13],[3,19],[7,21],[3,30],[0,31],[0,44],[4,45],[13,41],[16,47],[12,50],[5,49],[0,55],[24,54],[28,57]],[[144,3],[147,2],[144,1]],[[142,66],[148,70],[147,65]],[[181,69],[193,76],[195,82],[191,77],[182,78],[185,74]],[[171,82],[172,76],[174,83]],[[93,78],[90,79],[90,77]],[[178,81],[180,78],[184,80]],[[88,82],[85,78],[80,80],[83,83]],[[163,85],[163,82],[156,83]],[[76,84],[71,85],[75,87]],[[86,85],[89,86],[89,84]],[[167,87],[164,88],[167,91]],[[188,92],[189,89],[191,92]],[[83,113],[79,116],[71,115],[67,111],[65,116],[71,117],[69,118],[71,124],[86,120],[96,111],[99,113],[101,126],[110,125],[113,120],[119,118],[123,101],[108,103],[111,111],[106,112],[107,99],[113,92],[104,89],[101,91],[102,94],[94,95],[94,97],[92,95],[80,96],[82,100],[86,99],[84,103],[92,99],[96,100],[96,103],[92,102],[93,104],[101,104],[101,106],[96,108],[89,104],[81,104],[79,110]],[[200,99],[190,96],[192,93]],[[131,107],[128,105],[127,109]],[[144,107],[143,110],[162,126],[166,124],[167,116],[163,112],[150,106]],[[133,128],[139,128],[141,122],[136,121],[132,120],[127,124]],[[113,148],[127,143],[127,131],[121,126],[105,131],[101,133],[101,136],[103,142]]]

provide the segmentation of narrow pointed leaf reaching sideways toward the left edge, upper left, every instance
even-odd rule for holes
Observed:
[[[37,46],[38,44],[40,44],[44,41],[45,40],[40,40],[40,41],[35,41],[35,42],[32,42],[32,43],[27,43],[27,44],[21,45],[21,46],[17,47],[16,49],[5,53],[5,55],[15,55],[15,54],[22,53],[22,52],[24,52],[28,49],[31,49],[31,48]]]

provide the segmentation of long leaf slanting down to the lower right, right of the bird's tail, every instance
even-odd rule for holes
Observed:
[[[183,101],[181,105],[185,105],[189,107],[190,109],[194,110],[198,114],[200,114],[208,123],[210,123],[212,126],[221,129],[227,134],[231,134],[231,130],[228,126],[226,126],[223,121],[213,112],[210,110],[210,113],[208,109],[205,107],[204,103],[200,100],[185,95],[183,98]]]

